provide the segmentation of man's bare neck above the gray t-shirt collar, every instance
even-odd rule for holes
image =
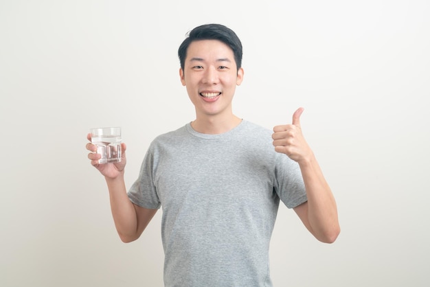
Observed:
[[[208,135],[218,135],[236,128],[240,122],[242,122],[242,119],[236,117],[236,115],[231,115],[231,117],[224,119],[218,119],[216,117],[197,117],[191,123],[191,126],[194,130],[196,130],[196,132],[205,133]]]

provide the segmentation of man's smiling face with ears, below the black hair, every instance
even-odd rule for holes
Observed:
[[[197,117],[231,115],[231,100],[243,69],[237,69],[230,47],[217,40],[194,41],[184,64],[179,74]]]

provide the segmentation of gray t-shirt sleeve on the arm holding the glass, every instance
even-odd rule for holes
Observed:
[[[148,149],[140,168],[139,177],[127,193],[132,203],[148,209],[159,209],[161,206],[153,181],[154,165],[154,156]]]

